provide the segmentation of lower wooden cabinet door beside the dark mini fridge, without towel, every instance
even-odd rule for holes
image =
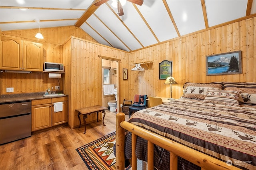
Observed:
[[[52,127],[52,104],[42,104],[31,107],[32,131]]]

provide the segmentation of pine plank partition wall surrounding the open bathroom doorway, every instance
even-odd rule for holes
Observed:
[[[64,65],[68,67],[64,78],[64,93],[69,95],[68,124],[73,128],[79,125],[76,109],[102,105],[102,61],[98,55],[121,59],[120,68],[124,68],[128,65],[128,53],[71,37],[63,45],[63,55]],[[121,69],[118,74],[122,75]],[[121,87],[127,87],[127,83],[120,81]],[[95,120],[96,114],[86,119],[88,122]]]

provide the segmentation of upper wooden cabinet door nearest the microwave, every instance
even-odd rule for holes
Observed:
[[[23,70],[43,71],[43,45],[23,41]]]

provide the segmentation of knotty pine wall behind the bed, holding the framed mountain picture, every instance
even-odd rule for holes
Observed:
[[[159,80],[159,63],[172,61],[172,97],[180,98],[185,82],[256,82],[256,17],[216,29],[191,34],[167,43],[129,53],[129,99],[135,94],[170,97],[170,85]],[[206,56],[242,51],[242,74],[206,76]],[[144,72],[131,71],[134,65],[153,61]],[[126,97],[126,96],[124,96]],[[126,97],[127,98],[127,97]]]

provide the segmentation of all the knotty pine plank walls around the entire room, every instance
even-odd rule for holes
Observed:
[[[120,80],[119,102],[121,103],[124,99],[132,99],[133,101],[135,94],[170,96],[170,86],[165,85],[164,80],[158,79],[159,63],[163,60],[172,61],[173,64],[172,76],[178,82],[172,86],[174,98],[179,98],[182,95],[182,86],[185,82],[256,82],[255,23],[256,17],[253,17],[131,53],[94,43],[89,35],[73,26],[51,28],[47,31],[42,29],[42,34],[47,38],[43,40],[44,42],[40,42],[44,44],[45,61],[63,62],[66,68],[72,69],[66,69],[62,83],[64,92],[70,94],[70,126],[76,127],[78,125],[78,119],[74,113],[76,108],[101,104],[102,102],[101,79],[99,78],[101,63],[98,55],[121,59],[118,72]],[[37,42],[34,35],[35,30],[1,32],[1,36]],[[78,38],[72,37],[67,41],[70,35]],[[85,41],[84,38],[92,42]],[[65,48],[62,52],[60,45],[64,43],[63,47]],[[238,50],[242,50],[242,74],[206,76],[207,55]],[[150,69],[144,66],[144,72],[131,71],[134,67],[132,63],[143,61],[153,61],[150,64]],[[122,80],[122,68],[128,68],[128,80]],[[58,83],[50,82],[48,84],[48,81],[51,80],[47,80],[47,77],[43,75],[44,73],[38,75],[41,77],[39,79],[36,79],[37,76],[33,74],[37,73],[32,73],[29,77],[24,74],[14,75],[18,78],[13,78],[12,75],[1,73],[1,94],[5,93],[6,87],[20,88],[20,84],[23,87],[18,92],[36,92],[44,91],[46,86],[55,86]],[[17,83],[20,82],[19,78],[21,78],[22,83]],[[38,80],[44,84],[39,86],[40,88],[33,84],[34,81],[37,82]],[[95,120],[94,118],[89,119]]]

